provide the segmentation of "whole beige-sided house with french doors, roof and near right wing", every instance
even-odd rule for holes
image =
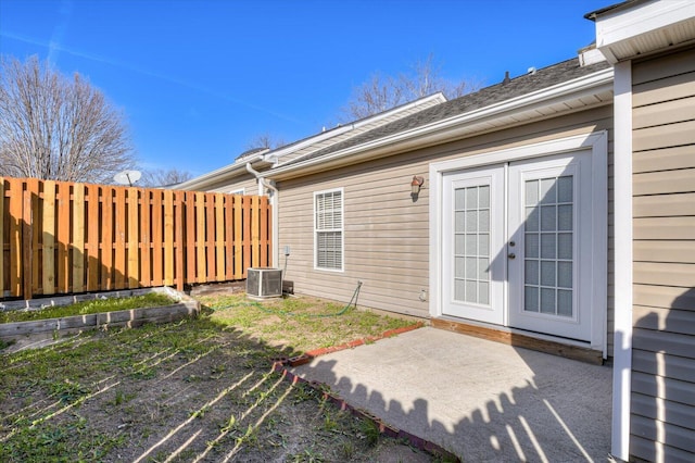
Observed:
[[[587,17],[576,59],[179,188],[270,195],[296,292],[612,359],[611,453],[692,461],[695,2]]]

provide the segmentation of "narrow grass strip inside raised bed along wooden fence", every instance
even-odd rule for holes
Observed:
[[[0,323],[29,322],[33,320],[60,318],[72,315],[88,315],[100,312],[170,305],[177,301],[160,292],[148,292],[129,298],[94,299],[70,305],[50,305],[39,310],[11,310],[0,312]]]

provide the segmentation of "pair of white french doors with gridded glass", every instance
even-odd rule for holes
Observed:
[[[589,151],[444,174],[442,313],[591,341],[591,175]]]

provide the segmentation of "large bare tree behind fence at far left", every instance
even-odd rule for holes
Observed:
[[[81,76],[2,60],[0,175],[110,183],[135,157],[124,116]]]

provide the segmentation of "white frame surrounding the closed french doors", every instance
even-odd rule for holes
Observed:
[[[431,163],[430,177],[430,315],[442,315],[442,227],[443,175],[446,172],[480,167],[490,164],[560,154],[577,150],[591,150],[592,165],[592,213],[595,218],[592,234],[595,238],[595,250],[591,263],[591,288],[582,288],[592,295],[592,337],[587,347],[603,350],[607,355],[606,313],[607,313],[607,267],[608,267],[608,134],[606,130],[572,137],[542,141],[522,147],[467,155],[448,161]],[[508,288],[505,281],[505,303]],[[507,308],[505,306],[505,312]]]

